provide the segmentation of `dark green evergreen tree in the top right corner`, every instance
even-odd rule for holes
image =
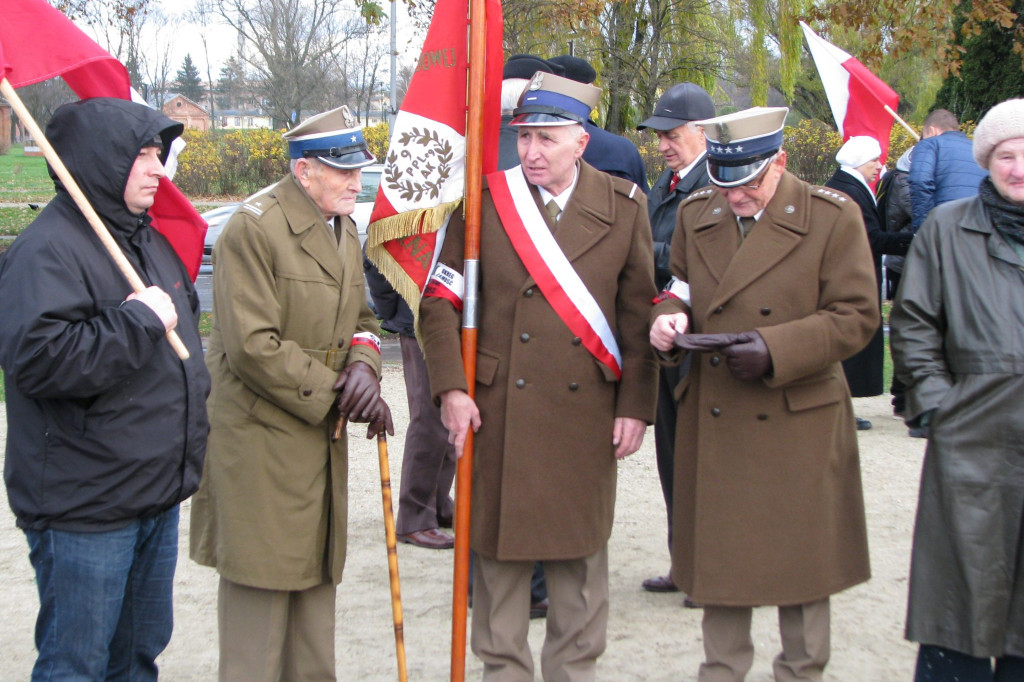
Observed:
[[[1024,71],[1020,54],[1014,51],[1015,33],[1021,30],[1024,0],[1016,0],[1011,8],[1017,13],[1013,26],[1002,28],[995,22],[982,26],[977,34],[964,36],[961,28],[971,11],[971,1],[957,8],[954,22],[956,39],[962,46],[963,66],[959,74],[950,74],[935,96],[935,106],[948,109],[961,121],[977,122],[992,104],[1004,99],[1024,96]]]

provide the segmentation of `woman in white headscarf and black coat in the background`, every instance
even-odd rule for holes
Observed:
[[[864,217],[864,227],[867,228],[867,241],[871,245],[879,291],[882,290],[883,254],[906,255],[913,237],[909,233],[887,232],[882,227],[874,191],[871,189],[871,183],[878,179],[879,171],[883,168],[879,161],[881,156],[882,147],[873,137],[866,135],[851,137],[836,155],[836,161],[839,162],[840,167],[825,182],[826,187],[845,193],[860,207],[860,212]],[[879,314],[882,314],[881,309]],[[863,350],[843,361],[843,371],[846,373],[847,383],[850,384],[851,396],[867,397],[882,394],[884,363],[885,341],[880,327]],[[858,417],[857,428],[859,430],[869,429],[871,423]]]

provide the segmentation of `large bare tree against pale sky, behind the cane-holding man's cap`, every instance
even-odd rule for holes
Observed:
[[[343,48],[344,0],[215,0],[245,41],[243,59],[274,126],[295,125],[308,112]]]

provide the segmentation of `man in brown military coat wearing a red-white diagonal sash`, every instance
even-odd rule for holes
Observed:
[[[616,459],[639,449],[654,416],[644,194],[581,161],[599,93],[537,74],[512,121],[522,165],[487,176],[475,402],[460,347],[458,218],[421,302],[430,386],[459,455],[476,430],[471,641],[484,680],[534,679],[535,560],[545,562],[550,599],[544,679],[595,679]]]

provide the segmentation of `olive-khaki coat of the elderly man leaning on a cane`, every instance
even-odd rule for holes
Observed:
[[[331,441],[338,372],[380,353],[355,225],[339,248],[289,174],[239,208],[214,247],[213,378],[190,554],[232,583],[305,590],[341,581],[345,438]]]

